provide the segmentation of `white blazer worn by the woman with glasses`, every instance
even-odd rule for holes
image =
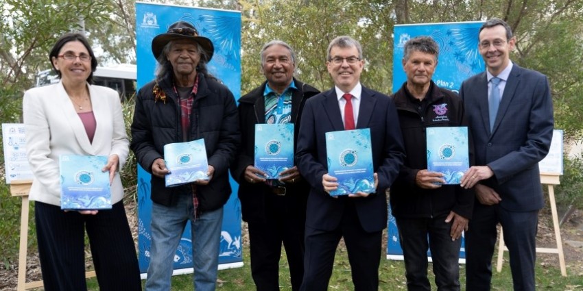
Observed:
[[[34,180],[31,200],[60,206],[59,155],[117,154],[119,166],[111,184],[111,203],[123,198],[119,173],[128,157],[128,136],[119,94],[110,88],[87,84],[97,123],[93,143],[61,82],[24,93],[23,116],[26,153]]]

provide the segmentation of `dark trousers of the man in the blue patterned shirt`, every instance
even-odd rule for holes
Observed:
[[[293,193],[288,193],[293,194]],[[300,289],[304,276],[305,210],[290,213],[286,198],[267,196],[265,220],[248,222],[251,275],[258,291],[279,290],[281,244],[285,247],[292,290]]]

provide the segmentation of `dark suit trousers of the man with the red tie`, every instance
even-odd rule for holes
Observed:
[[[340,238],[344,237],[355,291],[379,290],[379,264],[383,231],[364,231],[353,199],[346,199],[342,221],[336,229],[324,231],[306,227],[304,281],[300,290],[325,291],[332,275],[334,256]]]

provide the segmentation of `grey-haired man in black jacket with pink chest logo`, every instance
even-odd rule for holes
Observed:
[[[438,290],[460,290],[461,236],[472,215],[473,190],[443,185],[442,173],[427,170],[425,132],[431,127],[467,126],[464,105],[457,94],[431,80],[439,55],[433,38],[412,38],[405,42],[403,51],[407,81],[391,98],[407,157],[391,187],[390,201],[405,257],[407,290],[431,290],[428,249]]]

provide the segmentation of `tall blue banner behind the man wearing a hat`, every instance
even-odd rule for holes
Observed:
[[[241,97],[241,12],[213,10],[187,6],[136,2],[137,88],[154,79],[156,60],[152,55],[152,39],[167,31],[176,21],[192,23],[201,36],[209,38],[215,47],[209,72],[227,86],[235,99]],[[233,194],[224,205],[223,226],[219,250],[219,268],[243,266],[241,254],[241,205],[237,199],[238,184],[230,179]],[[141,273],[150,262],[150,174],[138,166],[138,249]],[[174,275],[192,273],[191,229],[185,232],[174,256]],[[143,274],[145,277],[145,274]]]

